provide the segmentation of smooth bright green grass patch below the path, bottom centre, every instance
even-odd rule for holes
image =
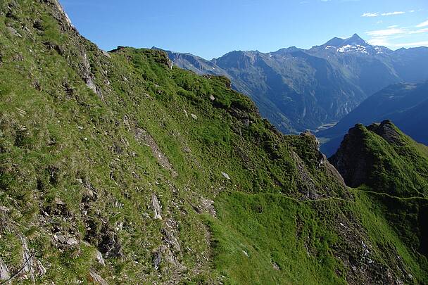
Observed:
[[[308,203],[272,194],[223,193],[213,229],[226,284],[345,284],[330,248],[337,236]],[[275,269],[274,266],[278,268]]]

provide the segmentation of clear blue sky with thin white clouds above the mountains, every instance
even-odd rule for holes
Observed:
[[[391,49],[428,46],[427,0],[60,0],[101,49],[157,46],[211,59],[309,48],[358,33]]]

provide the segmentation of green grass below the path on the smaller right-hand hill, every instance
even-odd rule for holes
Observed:
[[[355,190],[352,205],[377,257],[387,262],[395,259],[391,255],[399,255],[398,266],[412,268],[418,284],[427,281],[427,252],[426,248],[421,250],[427,238],[427,224],[421,220],[421,215],[427,213],[427,203],[426,198],[397,198],[360,189]]]

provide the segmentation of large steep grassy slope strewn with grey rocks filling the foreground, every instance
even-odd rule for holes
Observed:
[[[0,32],[1,279],[427,280],[386,220],[377,245],[315,137],[279,134],[225,77],[100,51],[53,0],[1,1]]]

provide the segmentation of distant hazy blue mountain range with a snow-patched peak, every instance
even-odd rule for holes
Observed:
[[[372,46],[358,34],[311,49],[231,51],[211,61],[167,52],[180,68],[229,77],[232,87],[251,97],[284,133],[337,122],[390,84],[428,79],[427,47],[392,51]]]

